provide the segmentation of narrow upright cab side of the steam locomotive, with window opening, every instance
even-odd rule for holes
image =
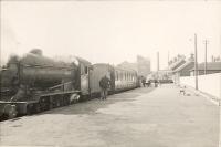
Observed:
[[[81,64],[81,92],[83,95],[88,94],[88,66]]]

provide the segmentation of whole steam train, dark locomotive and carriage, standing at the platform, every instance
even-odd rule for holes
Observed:
[[[108,94],[139,85],[134,70],[92,64],[77,56],[64,62],[32,50],[22,57],[12,57],[0,71],[0,120],[98,97],[104,75],[110,80]]]

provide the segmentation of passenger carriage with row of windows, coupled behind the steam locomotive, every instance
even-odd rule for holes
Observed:
[[[99,63],[93,65],[93,71],[90,75],[90,88],[92,96],[99,96],[99,81],[105,75],[110,80],[108,94],[137,87],[137,72],[134,70],[115,67],[109,64]]]

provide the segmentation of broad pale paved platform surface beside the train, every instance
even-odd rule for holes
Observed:
[[[219,107],[175,85],[0,123],[1,146],[218,147]]]

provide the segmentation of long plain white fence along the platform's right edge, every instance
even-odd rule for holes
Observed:
[[[180,84],[194,87],[194,76],[180,77]],[[221,99],[221,73],[198,76],[198,88]]]

